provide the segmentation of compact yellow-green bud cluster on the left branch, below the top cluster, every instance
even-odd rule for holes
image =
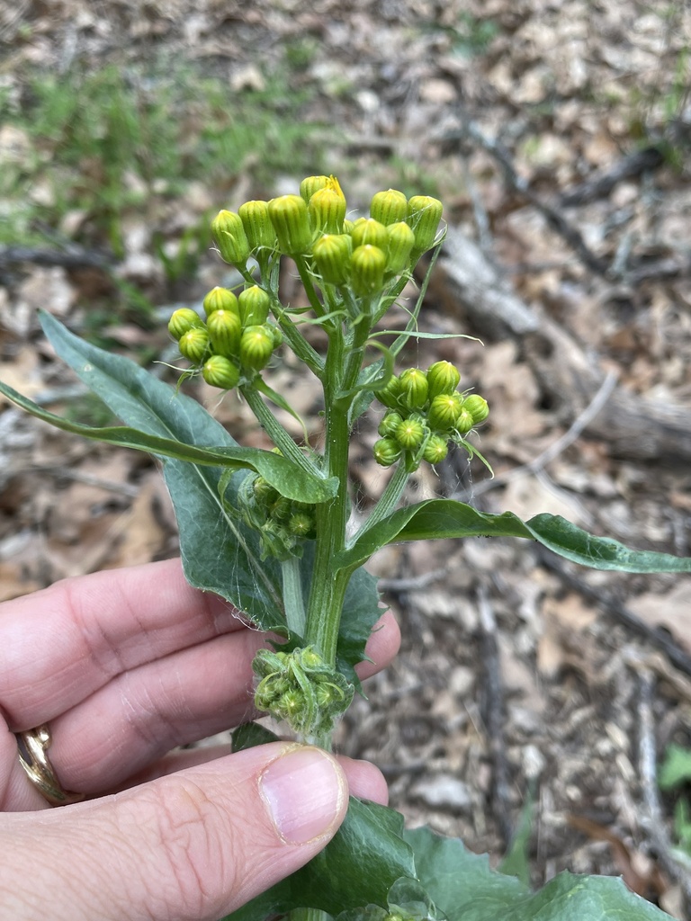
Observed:
[[[249,381],[266,367],[283,334],[268,321],[270,297],[257,285],[236,297],[215,287],[204,298],[205,320],[192,309],[175,310],[168,329],[181,355],[201,368],[206,383],[221,390]]]

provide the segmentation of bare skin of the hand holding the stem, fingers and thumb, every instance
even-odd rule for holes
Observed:
[[[359,676],[399,641],[384,614]],[[266,645],[176,560],[0,604],[0,917],[217,921],[317,854],[349,792],[386,802],[371,764],[310,746],[170,751],[252,717]],[[50,808],[21,768],[14,733],[44,722],[86,801]]]

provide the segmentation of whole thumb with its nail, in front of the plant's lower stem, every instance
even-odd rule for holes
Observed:
[[[347,799],[331,755],[273,742],[104,799],[5,813],[0,917],[217,921],[322,850]]]

